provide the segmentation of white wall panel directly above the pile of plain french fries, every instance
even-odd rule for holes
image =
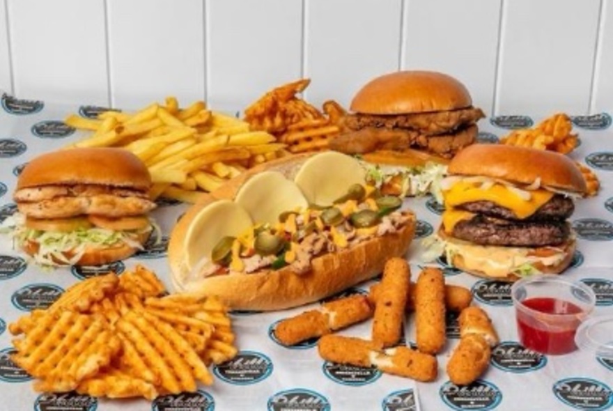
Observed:
[[[205,97],[201,0],[107,0],[111,102],[142,107]]]

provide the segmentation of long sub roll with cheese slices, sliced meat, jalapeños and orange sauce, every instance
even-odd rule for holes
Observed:
[[[173,228],[178,291],[217,295],[232,309],[276,310],[339,293],[404,256],[415,217],[365,183],[335,152],[263,164],[194,205]]]

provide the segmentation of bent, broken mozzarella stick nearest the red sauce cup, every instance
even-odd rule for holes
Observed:
[[[447,375],[453,384],[467,385],[488,369],[492,347],[499,340],[492,320],[480,307],[463,309],[458,321],[460,343],[447,363]]]

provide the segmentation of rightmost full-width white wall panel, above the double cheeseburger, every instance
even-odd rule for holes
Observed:
[[[503,1],[497,112],[586,114],[600,0]]]

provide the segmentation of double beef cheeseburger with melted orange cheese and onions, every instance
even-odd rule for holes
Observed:
[[[584,178],[568,157],[517,146],[475,144],[451,160],[435,254],[481,277],[558,274],[575,251],[568,223]],[[427,259],[427,258],[426,258]]]

